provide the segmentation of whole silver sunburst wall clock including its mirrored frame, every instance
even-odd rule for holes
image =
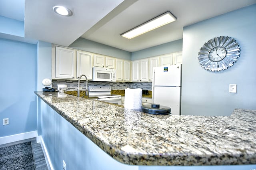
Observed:
[[[200,48],[198,60],[200,65],[210,71],[222,71],[231,67],[240,56],[240,47],[233,38],[215,37]]]

